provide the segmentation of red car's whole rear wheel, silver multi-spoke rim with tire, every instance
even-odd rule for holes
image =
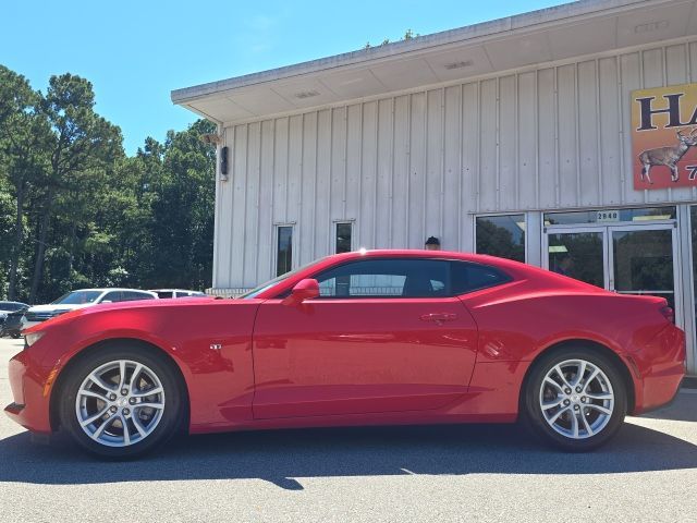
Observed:
[[[533,431],[570,451],[592,450],[622,426],[624,380],[613,361],[585,346],[542,356],[524,390],[523,415]]]

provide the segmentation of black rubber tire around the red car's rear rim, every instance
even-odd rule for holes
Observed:
[[[546,389],[542,390],[543,380],[548,373],[553,372],[557,365],[563,364],[564,362],[570,361],[585,361],[604,374],[603,377],[597,378],[597,381],[589,385],[589,387],[596,387],[596,390],[599,389],[599,384],[604,381],[610,382],[612,387],[613,394],[613,404],[612,404],[612,413],[607,415],[596,410],[595,405],[590,403],[596,403],[599,406],[606,408],[610,404],[610,402],[603,402],[598,400],[590,400],[589,397],[585,397],[585,392],[576,393],[576,390],[572,390],[572,397],[568,400],[562,400],[563,402],[568,401],[568,403],[562,403],[559,408],[554,406],[551,410],[546,411],[550,418],[553,417],[559,410],[566,410],[566,412],[561,413],[558,421],[554,422],[557,428],[552,428],[551,424],[548,422],[545,413],[542,412],[541,401],[545,398],[545,394],[549,397],[550,393],[554,393],[557,391],[555,387],[549,385],[549,382],[545,382]],[[565,369],[573,368],[572,364],[567,364],[562,367],[562,372],[564,374]],[[580,367],[578,367],[580,368]],[[579,374],[570,374],[567,376],[570,381],[574,381],[575,377]],[[590,372],[584,373],[586,378],[590,378]],[[557,381],[558,373],[554,373],[554,380]],[[573,379],[572,379],[573,378]],[[559,379],[560,382],[561,379]],[[583,386],[584,381],[582,380],[579,386]],[[561,389],[561,387],[560,387]],[[566,388],[563,391],[558,392],[555,398],[550,400],[550,403],[554,403],[559,401],[559,398],[566,398],[565,396]],[[594,393],[594,391],[589,390],[589,392]],[[607,394],[607,392],[600,390],[596,393]],[[586,403],[579,403],[580,401],[586,401]],[[578,410],[574,409],[578,406]],[[559,409],[559,410],[557,410]],[[535,362],[534,367],[530,369],[530,374],[525,382],[524,390],[521,393],[521,417],[524,424],[528,427],[528,429],[533,433],[534,436],[537,436],[553,446],[563,449],[565,451],[571,452],[585,452],[589,450],[597,449],[598,447],[607,443],[613,436],[616,435],[617,430],[622,426],[624,422],[624,417],[627,412],[627,391],[624,379],[622,378],[620,370],[617,369],[616,363],[613,362],[610,357],[602,354],[601,352],[590,349],[584,345],[570,345],[561,350],[552,351],[549,354],[542,355],[537,362]],[[576,417],[575,423],[572,423],[572,415]],[[597,416],[597,417],[590,417]],[[600,417],[603,417],[602,421],[598,421]],[[583,422],[583,423],[582,423]],[[582,437],[574,438],[573,437],[573,426],[578,424],[578,433]],[[587,430],[583,428],[585,424],[591,428],[591,430]],[[597,431],[592,431],[594,424],[597,424],[599,429]],[[568,425],[568,427],[566,427]],[[568,430],[570,435],[560,434],[559,430],[565,431]]]

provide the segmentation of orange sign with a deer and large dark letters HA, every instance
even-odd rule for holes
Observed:
[[[634,188],[697,186],[697,84],[632,93]]]

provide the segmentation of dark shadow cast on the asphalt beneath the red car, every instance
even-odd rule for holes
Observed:
[[[0,482],[75,485],[260,478],[303,489],[296,478],[400,474],[606,474],[697,467],[697,446],[626,423],[590,453],[565,453],[517,426],[464,425],[276,430],[181,437],[138,461],[103,462],[64,440],[0,440]]]

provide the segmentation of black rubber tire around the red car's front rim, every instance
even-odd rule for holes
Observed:
[[[142,364],[147,367],[148,370],[155,373],[163,390],[163,409],[161,409],[162,412],[158,423],[154,426],[152,430],[147,434],[147,436],[127,446],[110,447],[96,441],[87,435],[85,429],[83,429],[77,417],[76,401],[80,388],[87,376],[96,369],[108,365],[110,362],[117,361],[129,361]],[[180,378],[175,369],[172,368],[171,363],[168,362],[164,356],[157,354],[154,350],[148,350],[147,348],[138,345],[131,345],[129,343],[113,344],[86,353],[65,372],[68,375],[61,380],[59,390],[54,392],[60,394],[58,412],[61,428],[64,429],[80,447],[93,454],[111,460],[125,460],[140,457],[152,451],[157,447],[162,446],[174,433],[178,431],[181,426],[184,391],[180,385]],[[127,408],[129,405],[123,406]],[[101,406],[99,409],[101,409]],[[132,409],[133,417],[136,411],[134,408]],[[106,416],[109,416],[109,413],[107,413]],[[98,419],[97,423],[100,424],[102,422]],[[119,421],[119,423],[121,422]],[[132,424],[133,419],[130,423]],[[90,425],[90,427],[91,426],[94,425]],[[130,426],[133,427],[133,425]],[[87,429],[89,429],[89,427]],[[109,429],[105,431],[108,430]],[[122,433],[123,431],[124,430],[122,429]],[[130,433],[131,431],[133,430],[130,430]],[[139,437],[137,433],[134,431],[133,434],[135,434],[136,437]]]

